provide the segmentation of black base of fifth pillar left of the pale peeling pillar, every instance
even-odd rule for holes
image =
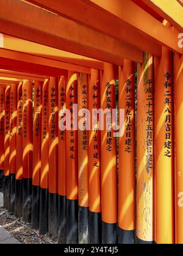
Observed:
[[[66,243],[78,244],[78,200],[66,199]]]

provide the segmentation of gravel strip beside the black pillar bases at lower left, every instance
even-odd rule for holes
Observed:
[[[38,230],[31,229],[30,223],[26,223],[22,218],[16,218],[14,214],[0,207],[0,225],[11,235],[23,244],[55,244],[49,235],[40,236]]]

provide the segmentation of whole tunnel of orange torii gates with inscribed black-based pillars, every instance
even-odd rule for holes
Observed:
[[[4,208],[58,243],[183,243],[182,6],[1,0]],[[75,130],[76,103],[124,109],[123,136]]]

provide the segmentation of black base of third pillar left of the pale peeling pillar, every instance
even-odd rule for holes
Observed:
[[[89,243],[101,244],[102,242],[101,213],[89,211]]]

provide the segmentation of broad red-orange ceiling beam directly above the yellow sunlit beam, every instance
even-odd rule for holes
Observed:
[[[2,34],[116,65],[124,58],[142,62],[134,46],[20,0],[1,0],[0,21]]]

